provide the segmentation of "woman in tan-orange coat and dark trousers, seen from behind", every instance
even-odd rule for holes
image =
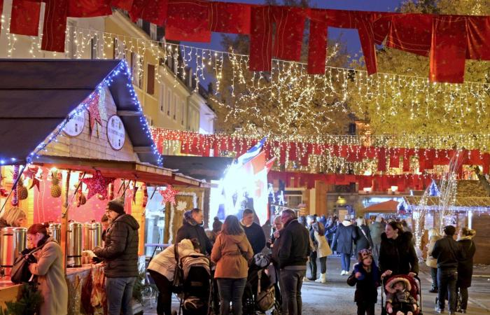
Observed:
[[[227,216],[211,251],[211,261],[216,263],[214,278],[218,281],[220,314],[230,314],[232,302],[233,314],[241,315],[241,297],[248,276],[248,261],[252,258],[252,246],[238,218]]]

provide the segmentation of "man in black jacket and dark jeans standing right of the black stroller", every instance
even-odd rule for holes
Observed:
[[[301,286],[306,275],[306,263],[310,253],[309,233],[299,222],[293,210],[282,211],[279,248],[279,267],[281,268],[281,295],[288,303],[288,311],[283,314],[301,315]]]

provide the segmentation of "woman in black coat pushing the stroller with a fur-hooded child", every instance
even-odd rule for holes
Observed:
[[[382,276],[415,276],[419,273],[419,259],[412,238],[411,232],[403,232],[400,223],[392,221],[386,224],[379,248],[379,269]]]

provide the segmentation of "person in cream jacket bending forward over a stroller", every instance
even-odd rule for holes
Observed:
[[[183,239],[177,246],[179,258],[199,253],[200,246],[197,239]],[[175,245],[171,245],[165,248],[165,251],[162,251],[150,261],[147,268],[158,288],[158,315],[172,314],[172,283],[174,283],[177,265],[174,247]]]

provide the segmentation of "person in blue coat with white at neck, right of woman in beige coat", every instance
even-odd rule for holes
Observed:
[[[340,262],[342,262],[342,272],[340,275],[349,275],[351,269],[352,242],[358,238],[357,228],[351,223],[351,216],[345,216],[344,221],[339,223],[337,231],[332,241],[332,248],[340,253]]]

